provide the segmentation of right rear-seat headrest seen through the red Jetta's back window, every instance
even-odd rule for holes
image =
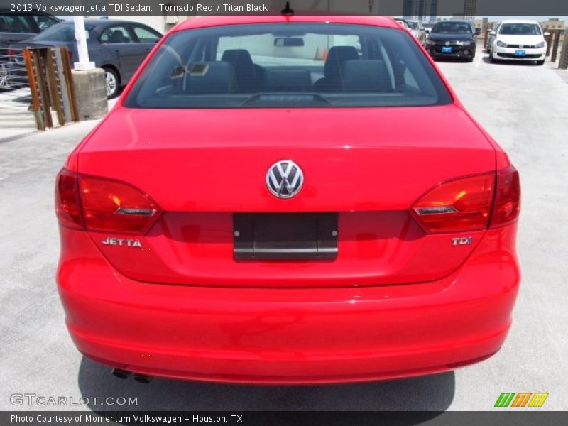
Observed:
[[[346,60],[342,64],[344,92],[389,92],[391,77],[383,60]]]

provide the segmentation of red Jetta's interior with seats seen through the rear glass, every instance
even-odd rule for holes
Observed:
[[[254,43],[246,38],[214,38],[180,43],[180,48],[162,45],[161,55],[142,77],[149,81],[140,94],[158,104],[201,102],[204,106],[227,107],[324,106],[349,103],[354,97],[365,105],[376,102],[377,95],[427,96],[430,99],[420,102],[436,102],[437,93],[420,69],[419,55],[376,38],[348,37],[351,45],[337,43],[329,50],[320,50],[314,36],[305,33],[287,35],[282,42],[280,35],[263,34]],[[410,46],[412,43],[410,40]],[[315,57],[307,57],[308,49],[315,50]],[[316,58],[322,50],[324,56]],[[133,92],[137,92],[136,87]]]

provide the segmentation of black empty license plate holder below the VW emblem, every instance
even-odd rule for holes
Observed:
[[[234,258],[334,259],[337,213],[234,213]]]

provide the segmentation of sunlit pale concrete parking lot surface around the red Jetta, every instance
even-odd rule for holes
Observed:
[[[555,66],[555,65],[554,65]],[[523,281],[505,346],[481,364],[406,380],[342,386],[229,386],[111,376],[84,359],[65,329],[55,288],[58,227],[53,183],[67,153],[92,129],[84,121],[19,138],[0,133],[0,409],[13,393],[133,397],[138,405],[92,410],[491,410],[501,392],[548,392],[568,409],[568,72],[439,62],[474,117],[506,149],[523,185],[518,250]],[[1,130],[0,130],[1,132]]]

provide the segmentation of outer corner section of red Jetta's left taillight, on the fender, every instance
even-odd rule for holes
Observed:
[[[62,169],[55,180],[55,214],[70,228],[83,228],[77,173]]]

